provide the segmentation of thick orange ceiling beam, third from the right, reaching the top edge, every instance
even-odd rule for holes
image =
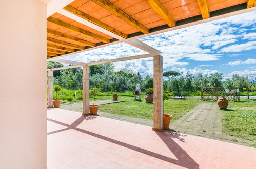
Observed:
[[[159,14],[169,27],[176,25],[175,20],[159,0],[147,0],[151,8]]]

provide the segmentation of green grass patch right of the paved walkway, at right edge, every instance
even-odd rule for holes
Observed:
[[[223,133],[255,142],[256,103],[229,102],[223,113]],[[256,147],[256,143],[250,146]]]

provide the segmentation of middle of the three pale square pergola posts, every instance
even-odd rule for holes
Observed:
[[[83,67],[83,115],[89,115],[90,66]]]

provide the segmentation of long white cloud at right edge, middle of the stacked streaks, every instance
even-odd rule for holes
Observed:
[[[235,44],[221,49],[221,52],[241,52],[256,49],[256,41],[249,41],[245,44]]]

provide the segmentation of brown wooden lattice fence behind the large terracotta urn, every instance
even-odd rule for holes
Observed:
[[[218,100],[221,94],[229,101],[237,101],[235,88],[201,88],[201,100]]]

